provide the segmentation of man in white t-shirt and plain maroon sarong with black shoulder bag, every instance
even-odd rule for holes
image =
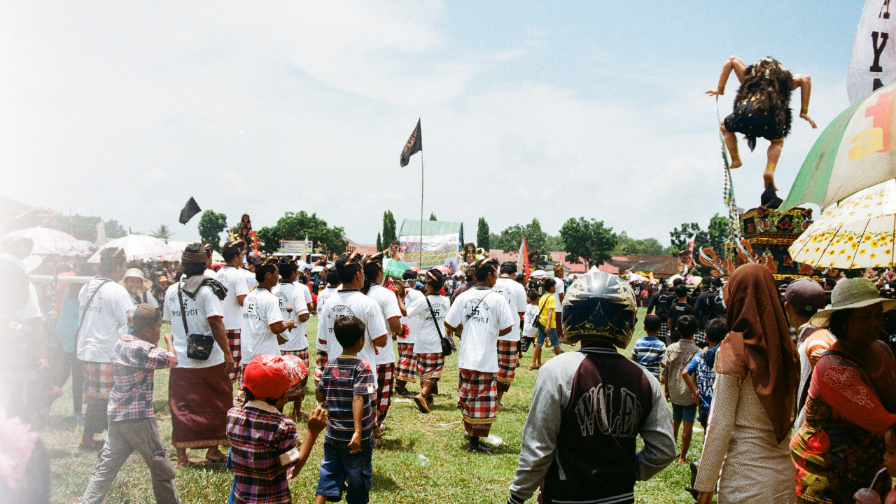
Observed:
[[[181,255],[184,275],[168,287],[162,304],[162,319],[171,325],[177,354],[177,367],[168,375],[168,405],[171,444],[181,466],[190,464],[187,449],[208,448],[205,458],[212,462],[227,458],[218,446],[227,439],[234,361],[221,307],[225,288],[204,274],[206,258],[202,244],[186,246]]]

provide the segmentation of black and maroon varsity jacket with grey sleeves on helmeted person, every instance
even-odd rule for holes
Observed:
[[[636,451],[638,436],[644,448]],[[676,456],[659,381],[609,346],[566,352],[538,370],[509,504],[627,504],[634,482]]]

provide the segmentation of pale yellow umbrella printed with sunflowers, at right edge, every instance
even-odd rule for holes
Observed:
[[[794,261],[820,268],[896,265],[896,180],[869,187],[828,208],[790,246]]]

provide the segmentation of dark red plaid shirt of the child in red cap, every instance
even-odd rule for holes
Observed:
[[[296,424],[263,401],[227,413],[237,503],[292,503],[287,467],[298,460]]]

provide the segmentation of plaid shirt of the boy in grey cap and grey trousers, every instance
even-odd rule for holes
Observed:
[[[152,418],[152,376],[155,369],[166,369],[177,362],[173,353],[144,342],[133,335],[118,339],[112,354],[112,378],[106,408],[109,421]]]

